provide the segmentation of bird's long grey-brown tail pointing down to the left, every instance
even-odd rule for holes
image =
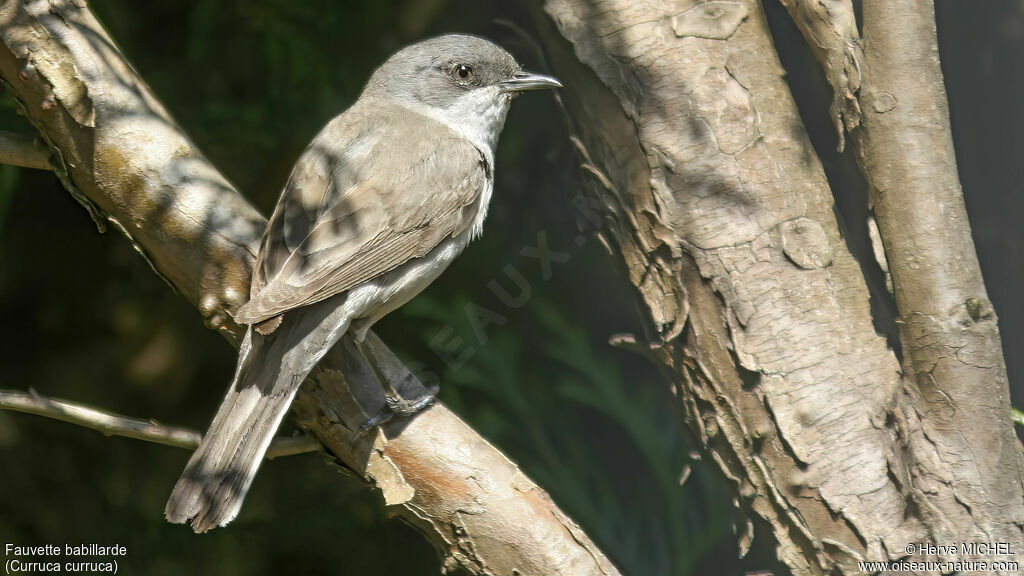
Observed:
[[[329,298],[288,313],[267,336],[249,327],[227,395],[167,501],[169,522],[206,532],[238,516],[299,384],[348,325]]]

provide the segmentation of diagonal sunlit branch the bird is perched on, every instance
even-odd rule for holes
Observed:
[[[266,220],[196,150],[85,3],[0,4],[0,76],[100,229],[124,233],[208,326],[237,343],[231,312],[247,299]],[[422,394],[376,336],[368,342],[379,372]],[[295,412],[421,529],[445,569],[617,574],[543,490],[442,405],[353,443],[383,400],[371,365],[346,340],[303,386]]]

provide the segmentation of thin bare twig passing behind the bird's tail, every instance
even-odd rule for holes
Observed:
[[[35,414],[101,433],[103,436],[133,438],[164,446],[194,450],[203,438],[198,430],[168,426],[156,420],[141,420],[89,408],[75,402],[47,398],[34,390],[0,390],[0,409]],[[268,459],[315,452],[321,443],[308,436],[279,437],[266,452]]]

